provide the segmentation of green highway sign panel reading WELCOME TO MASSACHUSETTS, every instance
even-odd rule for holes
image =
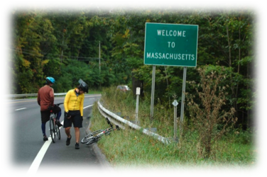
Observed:
[[[144,64],[197,67],[198,25],[146,23]]]

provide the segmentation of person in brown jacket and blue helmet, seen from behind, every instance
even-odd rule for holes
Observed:
[[[43,132],[43,141],[47,141],[48,137],[45,134],[45,124],[50,120],[50,110],[48,107],[53,106],[53,112],[57,113],[56,124],[60,127],[61,108],[58,105],[54,105],[54,89],[51,87],[55,84],[55,79],[48,76],[46,78],[45,86],[41,87],[38,91],[37,102],[40,105],[40,117],[41,117],[41,128]]]

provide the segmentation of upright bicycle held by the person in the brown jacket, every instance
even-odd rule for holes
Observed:
[[[61,105],[63,103],[58,103],[56,105]],[[49,120],[49,126],[50,126],[50,135],[52,138],[52,141],[55,143],[55,135],[58,136],[58,139],[60,139],[60,128],[55,123],[57,118],[57,113],[53,113],[53,106],[49,107],[48,110],[50,110],[50,120]]]

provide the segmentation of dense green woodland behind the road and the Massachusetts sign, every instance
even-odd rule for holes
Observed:
[[[81,78],[94,89],[142,84],[150,96],[152,67],[143,64],[146,23],[199,25],[197,66],[224,66],[224,109],[234,107],[247,128],[261,127],[263,11],[254,4],[30,2],[6,8],[4,18],[5,93],[36,93],[53,76],[56,92]],[[156,103],[169,108],[174,94],[180,101],[182,73],[182,67],[156,67]],[[200,81],[200,75],[188,68],[187,80]],[[188,84],[186,91],[196,95]]]

